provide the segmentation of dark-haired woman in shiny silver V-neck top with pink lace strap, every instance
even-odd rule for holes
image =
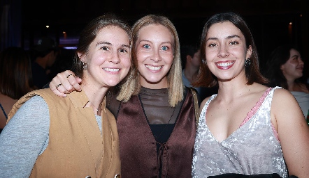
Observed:
[[[219,89],[201,103],[192,176],[309,177],[309,127],[301,108],[288,90],[265,86],[252,34],[240,15],[208,19],[201,58],[194,84]]]

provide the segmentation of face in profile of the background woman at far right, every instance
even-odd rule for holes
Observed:
[[[301,54],[295,49],[289,51],[289,59],[280,69],[283,75],[288,81],[299,79],[303,76],[303,60],[301,60]]]

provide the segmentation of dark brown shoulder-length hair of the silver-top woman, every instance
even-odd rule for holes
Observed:
[[[247,78],[247,85],[257,82],[266,84],[267,79],[259,71],[259,57],[257,53],[257,47],[255,46],[252,33],[247,26],[245,20],[236,13],[218,13],[208,19],[203,27],[201,34],[201,67],[196,80],[192,82],[192,86],[213,87],[217,86],[217,78],[210,72],[206,64],[206,36],[210,26],[221,22],[231,22],[235,25],[241,33],[245,36],[246,47],[252,47],[252,55],[250,56],[250,66],[245,67],[245,75]],[[245,64],[244,64],[245,65]]]

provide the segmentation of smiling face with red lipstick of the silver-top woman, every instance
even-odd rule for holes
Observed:
[[[206,35],[206,61],[218,81],[229,81],[237,76],[245,79],[245,59],[250,58],[245,37],[231,22],[213,24]]]

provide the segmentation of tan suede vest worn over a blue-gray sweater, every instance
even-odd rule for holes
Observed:
[[[40,95],[50,112],[49,143],[38,156],[30,177],[115,177],[120,175],[116,120],[102,104],[102,136],[85,92],[57,97],[49,88],[24,95],[8,115],[34,95]],[[118,176],[120,177],[120,176]]]

